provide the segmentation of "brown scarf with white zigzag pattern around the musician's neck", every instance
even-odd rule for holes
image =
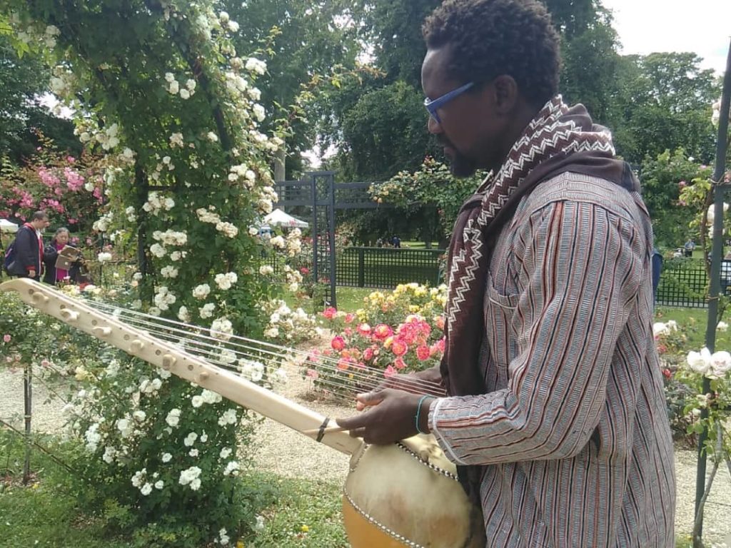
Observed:
[[[497,237],[520,199],[541,181],[563,172],[592,175],[639,191],[629,165],[614,157],[610,132],[596,126],[583,105],[569,108],[561,96],[545,104],[515,142],[499,172],[488,175],[477,194],[462,206],[455,223],[448,256],[447,343],[441,364],[447,394],[485,393],[480,368],[485,336],[482,306]],[[479,501],[482,470],[459,468],[463,486]]]

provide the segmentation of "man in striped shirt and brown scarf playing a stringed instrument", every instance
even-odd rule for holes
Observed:
[[[452,235],[444,359],[419,377],[446,395],[378,389],[338,423],[372,444],[432,433],[488,547],[674,547],[639,184],[557,94],[537,1],[447,0],[424,36],[429,132],[455,175],[492,170]]]

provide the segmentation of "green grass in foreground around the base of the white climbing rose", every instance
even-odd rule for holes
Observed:
[[[75,498],[60,487],[67,471],[45,454],[33,453],[32,482],[23,486],[22,455],[22,440],[0,430],[0,548],[129,548],[129,539],[110,538],[102,520],[80,512]],[[58,457],[63,460],[62,454]],[[244,539],[246,548],[349,546],[340,514],[341,484],[253,471],[242,481],[270,490],[276,501],[257,509],[265,517],[265,528]]]

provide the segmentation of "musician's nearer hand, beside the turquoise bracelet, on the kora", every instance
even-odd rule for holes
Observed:
[[[368,412],[336,419],[353,437],[363,438],[366,444],[385,445],[417,433],[414,420],[420,395],[387,388],[359,394],[356,399],[359,408],[370,408]],[[423,406],[424,412],[428,413],[428,404]]]

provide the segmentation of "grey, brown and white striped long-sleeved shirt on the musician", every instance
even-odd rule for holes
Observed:
[[[485,281],[488,393],[429,427],[484,468],[487,547],[673,548],[675,474],[639,194],[558,175],[523,198]]]

